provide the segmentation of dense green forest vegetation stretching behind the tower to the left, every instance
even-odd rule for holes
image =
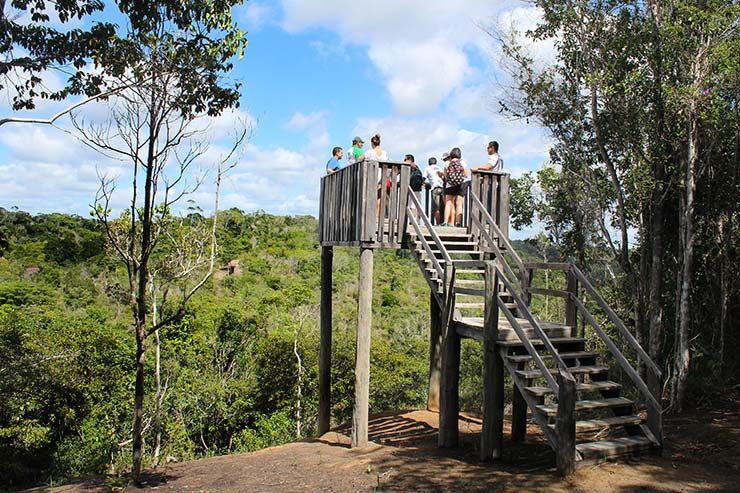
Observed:
[[[316,228],[312,217],[220,216],[219,263],[239,260],[242,272],[214,276],[183,320],[161,331],[163,459],[255,450],[312,433]],[[135,345],[121,264],[96,223],[80,217],[0,209],[0,240],[0,484],[127,470]],[[358,260],[357,249],[336,249],[337,423],[352,409]],[[371,411],[423,407],[428,288],[405,252],[379,252],[375,276]],[[154,351],[147,366],[151,454]]]

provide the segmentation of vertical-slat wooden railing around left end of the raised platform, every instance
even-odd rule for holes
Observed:
[[[401,248],[406,234],[409,165],[363,161],[321,179],[322,246]]]

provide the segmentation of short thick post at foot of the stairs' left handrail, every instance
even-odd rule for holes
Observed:
[[[558,373],[558,414],[555,449],[558,473],[567,476],[576,469],[576,381],[569,373]]]

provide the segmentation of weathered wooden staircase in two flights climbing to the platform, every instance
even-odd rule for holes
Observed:
[[[485,232],[475,235],[468,228],[431,227],[423,214],[418,220],[408,214],[408,246],[439,306],[448,314],[448,330],[484,342],[487,304],[498,305],[494,305],[499,313],[494,319],[495,352],[526,402],[531,419],[555,450],[559,468],[561,454],[571,458],[572,470],[595,461],[661,450],[660,433],[656,436],[651,431],[638,405],[623,396],[621,384],[610,379],[618,368],[589,351],[584,338],[574,337],[574,327],[538,320],[530,313],[515,284],[519,280],[511,279],[513,271],[504,256],[511,245],[508,241],[498,244],[495,226],[489,224]],[[486,248],[492,242],[497,245]],[[494,271],[486,263],[494,262],[495,279],[487,279],[486,273]],[[495,292],[493,299],[486,297],[487,292]],[[583,304],[580,307],[585,310]],[[602,333],[598,327],[598,334]],[[621,353],[619,357],[624,358]],[[619,362],[624,365],[626,359]],[[561,413],[559,402],[568,400],[563,394],[566,387],[573,396],[568,410]],[[569,434],[573,436],[563,436]]]

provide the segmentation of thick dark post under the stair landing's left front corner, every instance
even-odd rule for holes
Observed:
[[[448,287],[448,289],[450,289]],[[448,301],[448,303],[451,301]],[[439,396],[439,446],[457,447],[459,439],[460,414],[460,336],[450,322],[452,317],[443,319],[445,331],[442,345],[442,384]]]

